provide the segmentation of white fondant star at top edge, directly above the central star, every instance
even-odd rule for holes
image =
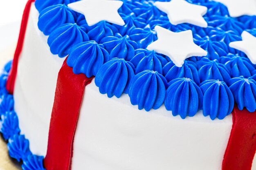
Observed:
[[[191,4],[185,0],[171,0],[170,2],[155,2],[158,9],[165,12],[173,25],[189,23],[207,27],[202,15],[207,13],[207,7]]]

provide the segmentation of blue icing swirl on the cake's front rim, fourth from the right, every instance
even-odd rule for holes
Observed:
[[[157,71],[142,71],[135,75],[129,91],[130,102],[139,110],[158,109],[164,103],[167,81]]]

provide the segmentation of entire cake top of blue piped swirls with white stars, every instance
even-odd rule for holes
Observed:
[[[36,0],[38,28],[75,74],[147,111],[224,119],[256,110],[254,0]]]

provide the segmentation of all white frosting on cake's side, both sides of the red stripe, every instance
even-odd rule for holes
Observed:
[[[31,7],[16,79],[15,110],[34,154],[47,151],[49,122],[58,71]],[[164,106],[146,112],[128,95],[108,98],[94,81],[85,89],[74,139],[73,170],[221,170],[232,116],[212,121],[198,112],[185,120]],[[256,167],[252,168],[256,170]]]

